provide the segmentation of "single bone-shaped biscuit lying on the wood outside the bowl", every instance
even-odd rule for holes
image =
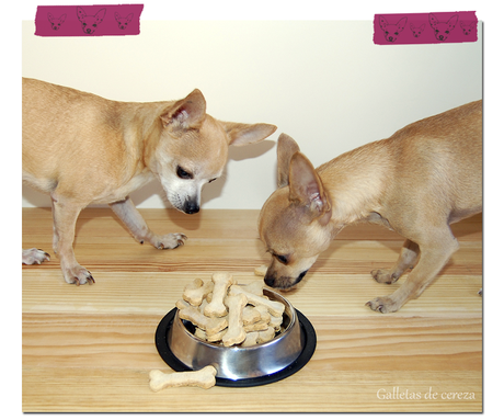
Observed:
[[[215,385],[215,375],[217,370],[209,365],[199,371],[162,373],[161,371],[150,371],[150,389],[154,393],[168,387],[180,386],[198,386],[204,389],[211,388]]]

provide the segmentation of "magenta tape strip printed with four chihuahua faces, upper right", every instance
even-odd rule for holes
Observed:
[[[478,41],[476,12],[375,14],[378,45],[450,44]]]

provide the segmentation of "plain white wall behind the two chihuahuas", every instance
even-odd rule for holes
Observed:
[[[141,20],[140,35],[124,37],[34,32],[24,21],[25,77],[121,101],[175,100],[198,88],[219,120],[278,126],[267,141],[230,148],[226,175],[205,188],[203,208],[261,208],[275,190],[280,133],[319,166],[482,98],[481,23],[477,43],[409,46],[375,45],[371,20]],[[168,205],[158,182],[131,197],[138,207]],[[23,206],[50,201],[23,188]]]

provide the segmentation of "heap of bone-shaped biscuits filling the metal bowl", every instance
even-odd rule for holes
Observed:
[[[176,303],[179,317],[192,322],[194,334],[214,344],[250,347],[280,331],[285,305],[263,295],[263,280],[239,286],[228,272],[196,279]]]

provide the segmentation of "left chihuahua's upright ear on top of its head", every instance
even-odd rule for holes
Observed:
[[[186,98],[176,101],[161,114],[163,127],[198,128],[206,117],[206,101],[203,93],[195,89]]]

